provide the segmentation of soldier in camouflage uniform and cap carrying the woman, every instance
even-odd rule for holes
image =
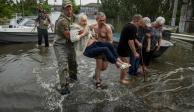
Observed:
[[[66,0],[62,13],[55,23],[54,50],[58,61],[61,94],[68,94],[69,80],[77,80],[77,63],[73,43],[70,41],[70,25],[73,23],[72,4]]]

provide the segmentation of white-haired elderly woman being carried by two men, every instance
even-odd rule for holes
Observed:
[[[74,42],[76,53],[84,54],[87,57],[95,58],[104,54],[107,60],[120,69],[126,69],[130,65],[122,62],[111,43],[99,42],[91,35],[87,24],[87,16],[81,13],[78,16],[78,24],[70,27],[70,40]],[[96,80],[96,88],[101,88],[101,80]]]

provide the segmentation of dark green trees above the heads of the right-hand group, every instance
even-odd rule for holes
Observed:
[[[169,21],[174,0],[101,0],[101,3],[101,10],[109,18],[130,19],[139,13],[152,20],[157,16],[164,16]]]

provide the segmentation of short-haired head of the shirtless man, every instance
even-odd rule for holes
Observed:
[[[98,12],[96,14],[96,21],[99,25],[106,23],[106,15],[103,12]]]

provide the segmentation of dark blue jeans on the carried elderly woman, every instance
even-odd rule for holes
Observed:
[[[116,63],[118,58],[115,48],[108,42],[94,42],[90,46],[86,47],[84,55],[89,58],[105,55],[110,63]]]

